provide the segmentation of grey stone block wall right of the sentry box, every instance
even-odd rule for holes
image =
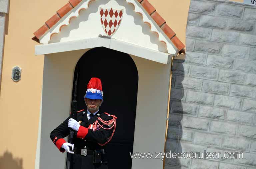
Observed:
[[[256,8],[191,0],[186,50],[172,67],[166,152],[221,154],[166,158],[165,169],[256,169]]]

